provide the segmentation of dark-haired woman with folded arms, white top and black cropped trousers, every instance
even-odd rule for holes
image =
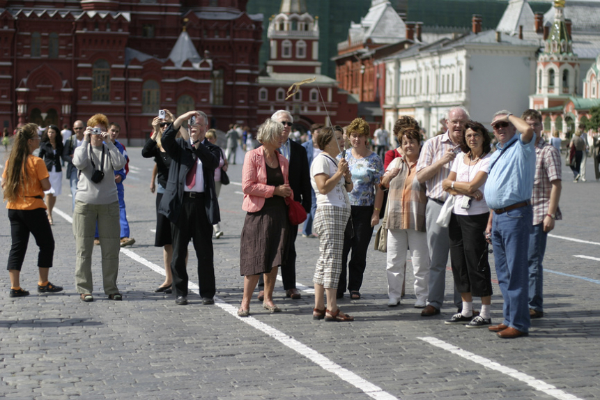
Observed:
[[[485,235],[489,232],[490,210],[484,199],[490,170],[491,135],[481,123],[469,121],[460,146],[463,153],[456,155],[442,186],[456,196],[448,234],[452,275],[456,290],[461,293],[463,309],[445,323],[484,328],[491,325],[492,282]],[[482,298],[479,315],[472,311],[472,296]]]

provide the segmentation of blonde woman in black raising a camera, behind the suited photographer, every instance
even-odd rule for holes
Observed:
[[[155,166],[153,171],[152,182],[150,184],[150,191],[156,191],[156,233],[154,238],[154,246],[162,247],[162,259],[164,263],[164,282],[155,289],[155,293],[172,293],[171,286],[173,284],[173,275],[171,274],[171,261],[173,261],[173,245],[171,238],[171,222],[169,218],[158,212],[162,195],[164,194],[165,188],[167,187],[167,180],[169,179],[169,167],[171,166],[171,157],[162,148],[161,139],[164,130],[167,126],[175,120],[173,114],[168,109],[164,110],[164,120],[160,117],[155,117],[152,121],[153,132],[146,141],[144,148],[141,149],[141,156],[144,158],[154,157]],[[179,130],[181,136],[188,140],[187,130]],[[156,187],[154,181],[157,178],[158,187]],[[186,266],[187,266],[187,255],[186,255]]]

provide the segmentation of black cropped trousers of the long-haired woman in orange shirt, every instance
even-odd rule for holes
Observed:
[[[54,259],[54,236],[48,222],[46,210],[36,208],[35,210],[8,210],[10,221],[10,236],[13,244],[8,254],[7,270],[21,270],[27,245],[29,245],[29,233],[36,239],[36,245],[40,247],[38,254],[38,267],[52,267]]]

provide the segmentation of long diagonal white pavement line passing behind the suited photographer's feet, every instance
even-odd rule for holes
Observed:
[[[63,213],[61,210],[57,210],[56,208],[54,208],[54,212],[56,212],[56,214],[60,215],[61,217],[65,218],[68,222],[72,223],[72,218],[69,215]],[[164,275],[163,267],[157,266],[155,263],[144,259],[144,257],[137,255],[130,249],[121,248],[121,253],[130,257],[130,259],[137,261],[138,263],[141,263],[142,265],[150,268],[154,272],[157,272],[160,275]],[[306,287],[303,285],[298,286]],[[200,294],[199,286],[197,284],[194,284],[194,282],[188,282],[188,287],[193,293],[196,293],[197,295]],[[307,357],[309,360],[317,364],[318,367],[321,367],[322,369],[325,369],[325,371],[329,371],[332,374],[339,376],[339,378],[341,378],[342,380],[345,380],[347,383],[350,383],[351,385],[362,390],[362,392],[364,392],[364,394],[367,394],[367,396],[372,397],[376,400],[399,400],[397,397],[394,397],[392,396],[392,394],[385,392],[383,389],[370,383],[368,380],[364,380],[357,374],[354,374],[352,371],[346,368],[342,368],[338,364],[335,364],[328,357],[319,354],[317,351],[313,350],[312,348],[309,348],[309,346],[306,346],[305,344],[300,343],[300,341],[293,339],[288,334],[285,334],[280,330],[272,328],[272,326],[267,325],[266,323],[263,323],[257,320],[256,318],[253,318],[252,316],[240,318],[238,316],[238,309],[236,307],[227,304],[220,298],[217,298],[217,296],[215,296],[215,305],[228,312],[232,316],[238,318],[238,320],[252,326],[252,328],[255,328],[257,330],[260,330],[261,332],[268,334],[270,337],[279,341],[279,343],[283,344],[284,346],[291,348],[296,353]]]

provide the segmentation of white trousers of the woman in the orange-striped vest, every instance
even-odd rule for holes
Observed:
[[[415,295],[418,302],[425,302],[429,293],[427,235],[413,229],[387,230],[387,295],[390,299],[399,299],[402,295],[409,248],[415,275]]]

